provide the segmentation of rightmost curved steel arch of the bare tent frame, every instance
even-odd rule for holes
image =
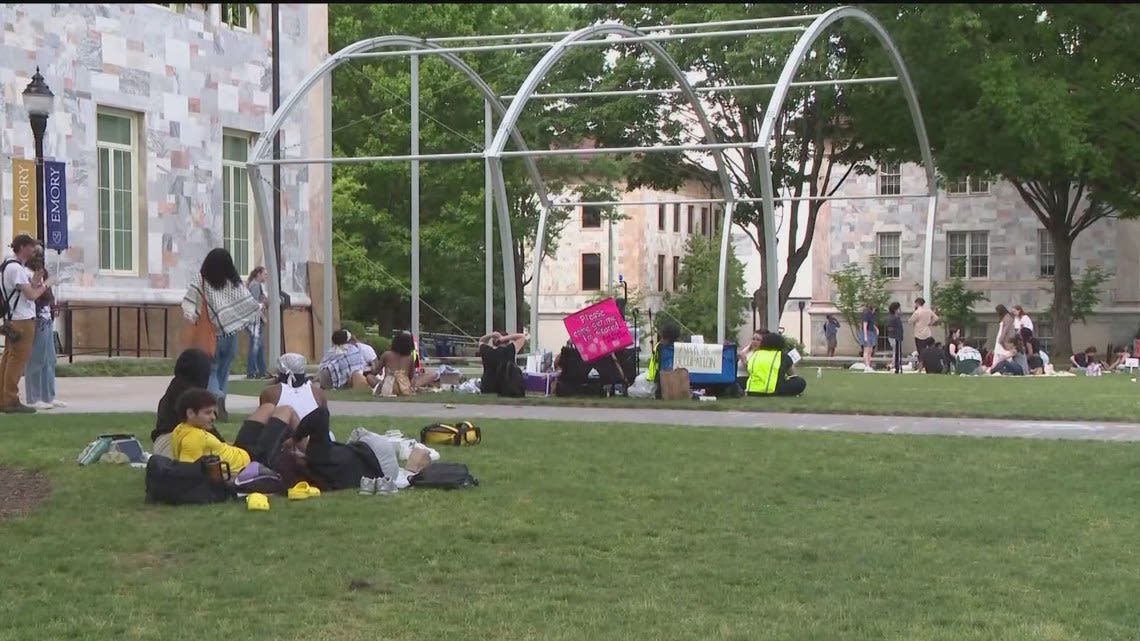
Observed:
[[[807,31],[800,35],[799,41],[796,42],[796,47],[792,49],[791,55],[788,57],[788,62],[784,63],[783,71],[780,73],[780,80],[776,82],[776,88],[772,92],[772,97],[768,99],[768,108],[764,111],[764,120],[760,123],[760,132],[757,135],[756,153],[759,155],[757,160],[759,161],[760,167],[760,192],[764,201],[764,286],[767,289],[767,324],[768,327],[773,328],[780,325],[780,269],[776,260],[775,197],[772,186],[772,159],[768,154],[768,140],[772,139],[776,116],[779,116],[780,112],[783,109],[784,99],[788,97],[788,90],[791,88],[792,79],[795,79],[796,73],[799,72],[799,66],[803,64],[807,51],[813,44],[815,44],[815,40],[828,27],[845,18],[854,18],[863,23],[870,27],[876,38],[879,39],[879,43],[882,44],[890,57],[890,65],[895,67],[895,75],[898,76],[898,82],[903,86],[903,92],[906,95],[906,104],[911,109],[911,120],[913,121],[914,131],[919,138],[919,151],[922,154],[922,163],[926,165],[927,192],[929,194],[927,198],[926,257],[922,262],[922,293],[927,300],[930,300],[934,218],[938,208],[938,185],[935,179],[934,156],[930,153],[930,140],[927,137],[926,123],[922,121],[922,112],[919,108],[918,94],[914,91],[914,84],[911,82],[911,76],[906,72],[906,65],[903,64],[903,57],[898,52],[898,48],[895,47],[895,43],[890,40],[890,35],[887,33],[887,30],[879,24],[879,21],[874,19],[871,14],[868,14],[862,9],[857,9],[855,7],[838,7],[816,18],[815,22],[807,27]]]

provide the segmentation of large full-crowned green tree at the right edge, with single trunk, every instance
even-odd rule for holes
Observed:
[[[1048,230],[1054,343],[1069,352],[1074,241],[1140,214],[1140,6],[873,10],[912,72],[940,172],[1008,180]],[[886,127],[902,112],[885,104],[874,115]],[[907,138],[896,147],[918,160]]]

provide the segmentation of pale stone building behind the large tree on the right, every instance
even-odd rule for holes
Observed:
[[[880,167],[878,173],[853,173],[840,195],[921,194],[926,173],[920,165]],[[829,274],[850,262],[866,265],[879,255],[891,277],[891,300],[910,309],[922,292],[926,200],[836,200],[819,219],[812,248],[811,341],[814,354],[825,349],[822,325],[837,314],[834,285]],[[1131,344],[1140,328],[1140,225],[1102,220],[1084,230],[1073,248],[1073,270],[1097,266],[1113,274],[1101,303],[1088,323],[1073,326],[1074,346]],[[992,342],[996,332],[993,307],[1021,305],[1031,317],[1050,306],[1053,273],[1052,243],[1040,220],[1005,181],[967,179],[940,193],[935,218],[933,278],[954,275],[990,299],[977,306],[979,324],[967,334]],[[845,323],[846,325],[846,323]],[[1036,324],[1045,343],[1052,327]],[[854,334],[842,327],[838,354],[857,351]]]

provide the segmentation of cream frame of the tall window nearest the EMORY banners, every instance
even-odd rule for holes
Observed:
[[[99,116],[100,115],[106,115],[106,116],[111,116],[111,117],[117,117],[117,119],[125,120],[130,124],[130,143],[122,144],[122,143],[108,143],[108,141],[100,140],[99,139]],[[140,238],[140,229],[139,229],[141,227],[141,225],[140,225],[140,222],[141,222],[141,212],[140,212],[141,197],[140,197],[140,194],[139,194],[139,182],[140,182],[140,178],[142,176],[142,172],[140,171],[140,163],[139,163],[139,136],[140,136],[139,129],[141,128],[140,127],[141,114],[139,114],[137,112],[130,112],[130,111],[127,111],[127,109],[115,108],[115,107],[97,106],[96,107],[95,119],[96,119],[96,122],[95,122],[96,206],[95,206],[95,209],[96,209],[96,246],[98,248],[98,250],[96,252],[98,254],[96,257],[97,273],[98,274],[108,275],[108,276],[138,276],[141,273],[141,268],[139,266],[139,260],[141,258],[140,257],[140,254],[141,254],[141,251],[140,251],[140,241],[141,241],[141,238]],[[101,196],[99,195],[99,192],[103,189],[101,185],[103,185],[103,171],[104,171],[104,167],[103,167],[103,162],[101,162],[101,156],[103,156],[103,151],[104,149],[106,149],[107,153],[108,153],[108,159],[107,160],[111,163],[112,169],[114,168],[114,164],[115,164],[115,162],[112,160],[112,157],[113,157],[112,154],[114,154],[116,152],[117,153],[125,153],[125,154],[128,154],[128,162],[130,164],[130,171],[129,171],[129,173],[130,173],[130,179],[131,179],[131,188],[130,188],[129,193],[130,193],[131,213],[130,213],[129,220],[130,220],[131,241],[130,241],[130,250],[129,250],[130,267],[127,268],[127,269],[116,269],[114,267],[114,265],[116,262],[115,258],[119,255],[119,253],[115,251],[116,250],[116,245],[115,245],[115,242],[114,242],[114,237],[115,237],[116,233],[122,233],[122,230],[115,229],[115,227],[112,225],[112,221],[115,219],[115,213],[116,213],[114,211],[113,205],[112,205],[112,210],[108,212],[108,217],[107,217],[107,221],[108,221],[108,240],[111,240],[111,243],[112,243],[111,248],[108,249],[108,253],[107,253],[108,266],[104,267],[104,263],[103,263],[103,229],[104,228],[103,228],[103,212],[100,211],[101,210]],[[107,185],[108,185],[108,187],[112,188],[112,190],[114,190],[113,186],[114,186],[114,179],[115,179],[115,177],[116,177],[116,173],[114,171],[112,171],[111,178],[107,180]],[[108,204],[111,204],[112,202],[113,202],[113,198],[108,200]]]

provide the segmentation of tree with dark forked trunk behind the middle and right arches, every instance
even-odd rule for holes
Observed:
[[[618,19],[629,25],[699,23],[788,15],[819,14],[831,8],[821,5],[581,5],[584,19]],[[772,84],[798,33],[767,33],[748,36],[685,39],[662,42],[662,47],[690,74],[699,78],[702,88]],[[869,57],[868,51],[880,46],[870,31],[860,25],[841,25],[831,38],[823,38],[806,56],[800,67],[804,80],[826,80],[853,75],[888,75],[885,58]],[[675,84],[640,44],[617,44],[619,56],[609,73],[596,82],[597,89],[667,88]],[[793,88],[781,112],[772,144],[773,187],[782,218],[777,219],[776,236],[788,248],[784,275],[779,283],[780,308],[787,303],[796,285],[799,269],[811,254],[820,212],[826,197],[853,173],[873,171],[872,160],[890,152],[881,144],[890,140],[882,132],[863,124],[863,114],[878,105],[865,97],[865,86],[829,86]],[[771,90],[712,91],[702,98],[720,143],[755,143]],[[902,100],[898,96],[896,99]],[[691,114],[691,106],[681,95],[638,96],[614,100],[583,102],[568,107],[578,120],[597,124],[597,136],[608,146],[677,145],[702,143],[703,132],[695,116],[687,116],[687,127],[677,127],[670,114]],[[898,127],[896,123],[895,127]],[[913,131],[913,129],[911,129]],[[685,163],[701,163],[707,154],[652,154],[630,163],[630,186],[650,185],[675,188],[676,169]],[[762,169],[752,151],[726,152],[727,170],[738,195],[759,198]],[[705,161],[707,162],[707,161]],[[781,200],[781,196],[783,200]],[[811,197],[816,200],[805,201]],[[764,246],[764,214],[759,202],[743,202],[735,208],[733,222],[752,241],[760,255],[776,248]],[[767,283],[762,285],[767,287]],[[763,305],[763,302],[762,302]]]

